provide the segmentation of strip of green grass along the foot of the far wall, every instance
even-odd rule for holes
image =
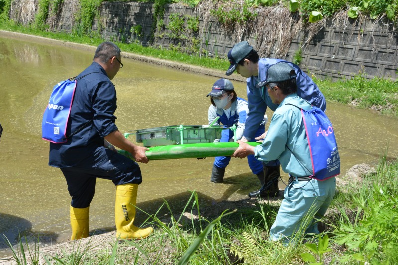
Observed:
[[[90,34],[83,34],[76,30],[73,33],[48,32],[38,30],[34,27],[20,26],[15,24],[13,21],[2,21],[0,29],[93,46],[97,46],[103,41],[103,39],[95,32],[91,32]],[[143,47],[136,43],[117,44],[124,52],[131,52],[205,68],[225,70],[229,65],[229,62],[226,59],[189,55],[169,49]],[[388,77],[368,79],[366,78],[366,75],[362,73],[358,73],[357,76],[350,80],[319,80],[316,79],[315,76],[312,76],[312,78],[314,78],[328,102],[333,101],[343,104],[351,104],[361,108],[375,109],[380,111],[382,114],[398,118],[398,81],[392,81]]]

